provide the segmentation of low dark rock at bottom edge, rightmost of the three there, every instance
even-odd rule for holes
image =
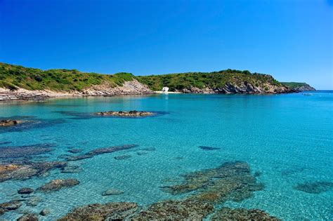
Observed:
[[[248,221],[248,220],[261,220],[261,221],[278,221],[279,219],[268,215],[263,210],[247,210],[244,208],[221,208],[218,210],[211,220],[237,220],[237,221]]]

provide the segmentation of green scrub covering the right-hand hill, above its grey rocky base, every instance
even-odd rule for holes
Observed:
[[[254,86],[270,83],[281,85],[279,81],[267,74],[251,74],[249,71],[227,69],[220,72],[189,72],[182,74],[163,74],[138,76],[138,81],[145,83],[153,91],[159,91],[163,86],[168,86],[170,91],[182,90],[190,86],[197,88],[222,88],[226,83],[240,84],[243,82],[252,83]]]

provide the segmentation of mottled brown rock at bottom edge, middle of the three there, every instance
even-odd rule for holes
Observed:
[[[214,206],[201,201],[161,201],[132,217],[132,220],[202,220]]]

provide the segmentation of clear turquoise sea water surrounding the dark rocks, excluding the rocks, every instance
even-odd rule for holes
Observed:
[[[84,113],[107,110],[157,111],[143,119],[91,118]],[[49,180],[76,178],[80,184],[58,192],[36,193],[37,206],[21,206],[2,219],[39,213],[54,220],[74,207],[108,201],[134,201],[141,206],[176,199],[162,192],[180,175],[215,168],[226,161],[246,161],[259,171],[265,188],[241,202],[224,206],[259,208],[282,220],[332,220],[333,191],[310,194],[294,189],[303,182],[333,182],[333,92],[311,96],[286,95],[150,95],[112,98],[65,98],[46,102],[0,103],[0,116],[34,116],[40,123],[1,129],[1,146],[55,144],[47,161],[61,161],[69,147],[87,152],[100,147],[136,144],[139,147],[70,161],[79,173],[52,170],[30,180],[0,182],[0,203],[18,197],[22,187],[37,188]],[[199,146],[218,147],[205,151]],[[155,148],[155,151],[142,150]],[[145,152],[138,155],[137,152]],[[116,160],[129,154],[131,158]],[[39,157],[39,156],[36,156]],[[1,159],[0,159],[1,160]],[[3,159],[4,160],[4,159]],[[124,194],[102,196],[106,189]]]

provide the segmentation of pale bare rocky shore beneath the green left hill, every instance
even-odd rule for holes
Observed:
[[[10,90],[6,88],[0,88],[0,102],[4,101],[42,101],[48,98],[62,98],[73,96],[114,96],[114,95],[149,95],[153,94],[148,86],[143,85],[136,79],[132,81],[125,81],[122,86],[112,87],[107,83],[100,85],[94,85],[86,88],[82,91],[29,91],[23,88],[17,88]]]

